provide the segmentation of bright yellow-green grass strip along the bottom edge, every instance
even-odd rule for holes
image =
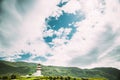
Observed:
[[[3,76],[0,80],[108,80],[105,78],[74,78],[63,76]]]

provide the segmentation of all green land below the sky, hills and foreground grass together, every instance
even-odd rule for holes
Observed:
[[[0,77],[17,75],[20,80],[119,80],[120,70],[116,68],[80,69],[77,67],[42,65],[43,77],[30,76],[36,70],[35,63],[0,61]],[[27,77],[21,77],[26,76]],[[61,78],[63,77],[63,79]]]

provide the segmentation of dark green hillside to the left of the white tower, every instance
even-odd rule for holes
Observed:
[[[26,75],[35,72],[35,68],[34,63],[0,61],[0,75],[12,73]]]

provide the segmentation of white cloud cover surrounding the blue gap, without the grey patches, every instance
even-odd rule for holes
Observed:
[[[120,29],[120,4],[113,0],[106,0],[106,4],[104,5],[100,0],[70,0],[64,7],[59,8],[56,6],[58,3],[59,0],[52,0],[52,2],[49,2],[49,0],[37,0],[35,6],[24,16],[17,12],[15,6],[12,5],[15,3],[10,3],[10,6],[7,5],[7,2],[4,3],[5,13],[14,19],[11,17],[8,20],[6,20],[6,18],[2,19],[6,25],[3,23],[0,24],[2,25],[0,31],[2,31],[6,39],[10,39],[11,42],[8,41],[8,43],[10,42],[10,44],[12,44],[9,48],[2,48],[3,46],[0,45],[0,51],[3,52],[0,56],[6,56],[8,57],[6,60],[13,61],[14,58],[11,56],[16,55],[16,58],[19,58],[20,56],[18,55],[22,54],[20,51],[24,50],[33,54],[28,60],[28,62],[32,62],[32,59],[36,56],[42,55],[45,57],[46,53],[51,53],[53,56],[47,57],[48,60],[41,63],[47,65],[78,66],[74,63],[71,65],[69,62],[76,57],[87,55],[97,46],[99,50],[104,50],[103,47],[108,46],[109,43],[107,42],[105,46],[104,44],[99,44],[104,40],[103,37],[99,36],[106,35],[103,33],[106,31],[106,25],[109,25],[113,31],[111,34],[116,33],[115,35],[117,35],[115,41],[112,43],[112,46],[107,47],[108,49],[105,48],[104,51],[100,51],[97,56],[98,61],[84,68],[111,66],[120,69],[119,61],[113,60],[113,58],[110,57],[104,58],[106,55],[109,55],[111,49],[114,49],[114,47],[120,43],[120,33],[118,32]],[[68,28],[61,28],[58,31],[49,30],[44,34],[42,32],[46,27],[45,18],[50,15],[60,16],[60,14],[62,14],[61,10],[68,13],[81,10],[85,13],[86,19],[76,24],[78,26],[77,32],[71,40],[65,39],[66,35],[71,31],[71,29]],[[101,10],[103,10],[104,13],[101,13]],[[4,17],[5,16],[2,16],[2,18]],[[11,21],[11,19],[13,21]],[[63,32],[62,38],[58,37],[53,40],[53,43],[56,44],[53,48],[50,48],[43,40],[43,36],[52,36],[54,33],[60,36]],[[68,44],[64,44],[64,42],[68,42]]]

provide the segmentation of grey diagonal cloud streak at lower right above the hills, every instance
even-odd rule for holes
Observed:
[[[114,32],[110,26],[107,26],[106,31],[103,32],[98,37],[98,43],[96,44],[96,47],[91,49],[91,51],[88,52],[86,55],[73,58],[70,61],[70,64],[75,64],[75,65],[79,65],[79,66],[86,66],[86,65],[90,65],[92,63],[96,63],[98,61],[98,57],[103,52],[105,52],[111,46],[114,45],[114,42],[118,36],[119,36],[119,31]],[[119,48],[115,51],[117,51],[117,53],[118,53]],[[115,55],[115,54],[116,54],[116,52],[114,52],[114,50],[113,50],[112,54],[110,54],[110,55]]]

